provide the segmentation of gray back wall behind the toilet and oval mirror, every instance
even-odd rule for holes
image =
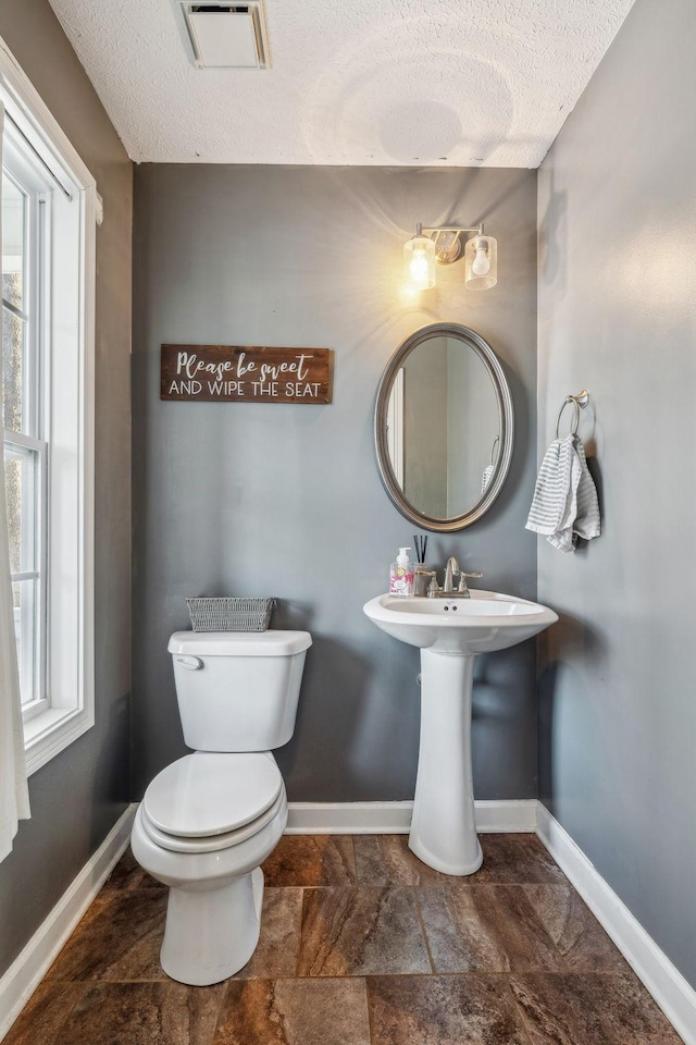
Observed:
[[[485,583],[534,595],[524,530],[535,471],[536,174],[147,165],[136,169],[134,239],[134,758],[136,788],[185,752],[169,635],[186,595],[277,595],[274,627],[314,636],[294,739],[278,753],[295,801],[412,798],[418,653],[374,628],[413,527],[381,487],[375,392],[391,352],[425,323],[461,322],[498,353],[517,408],[506,488],[470,530],[431,536]],[[400,297],[417,221],[474,224],[499,238],[499,282],[438,271],[420,306]],[[327,406],[165,403],[160,344],[325,346]],[[535,651],[477,668],[478,798],[536,796]]]

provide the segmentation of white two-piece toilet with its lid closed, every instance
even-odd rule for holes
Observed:
[[[176,631],[169,652],[192,754],[148,786],[130,836],[170,888],[161,963],[173,980],[217,983],[259,941],[261,863],[287,823],[272,754],[293,736],[308,631]]]

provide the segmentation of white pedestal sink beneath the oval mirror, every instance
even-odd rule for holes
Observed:
[[[470,599],[377,595],[363,606],[383,631],[421,650],[421,740],[409,847],[445,874],[483,861],[471,773],[474,660],[530,639],[558,620],[536,602],[497,591]]]

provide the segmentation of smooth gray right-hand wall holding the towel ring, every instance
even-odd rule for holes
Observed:
[[[539,451],[587,388],[604,533],[539,544],[562,614],[543,800],[696,986],[696,7],[636,0],[539,173]]]

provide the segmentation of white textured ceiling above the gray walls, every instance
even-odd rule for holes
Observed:
[[[633,0],[266,0],[197,70],[175,0],[50,0],[137,162],[535,168]]]

